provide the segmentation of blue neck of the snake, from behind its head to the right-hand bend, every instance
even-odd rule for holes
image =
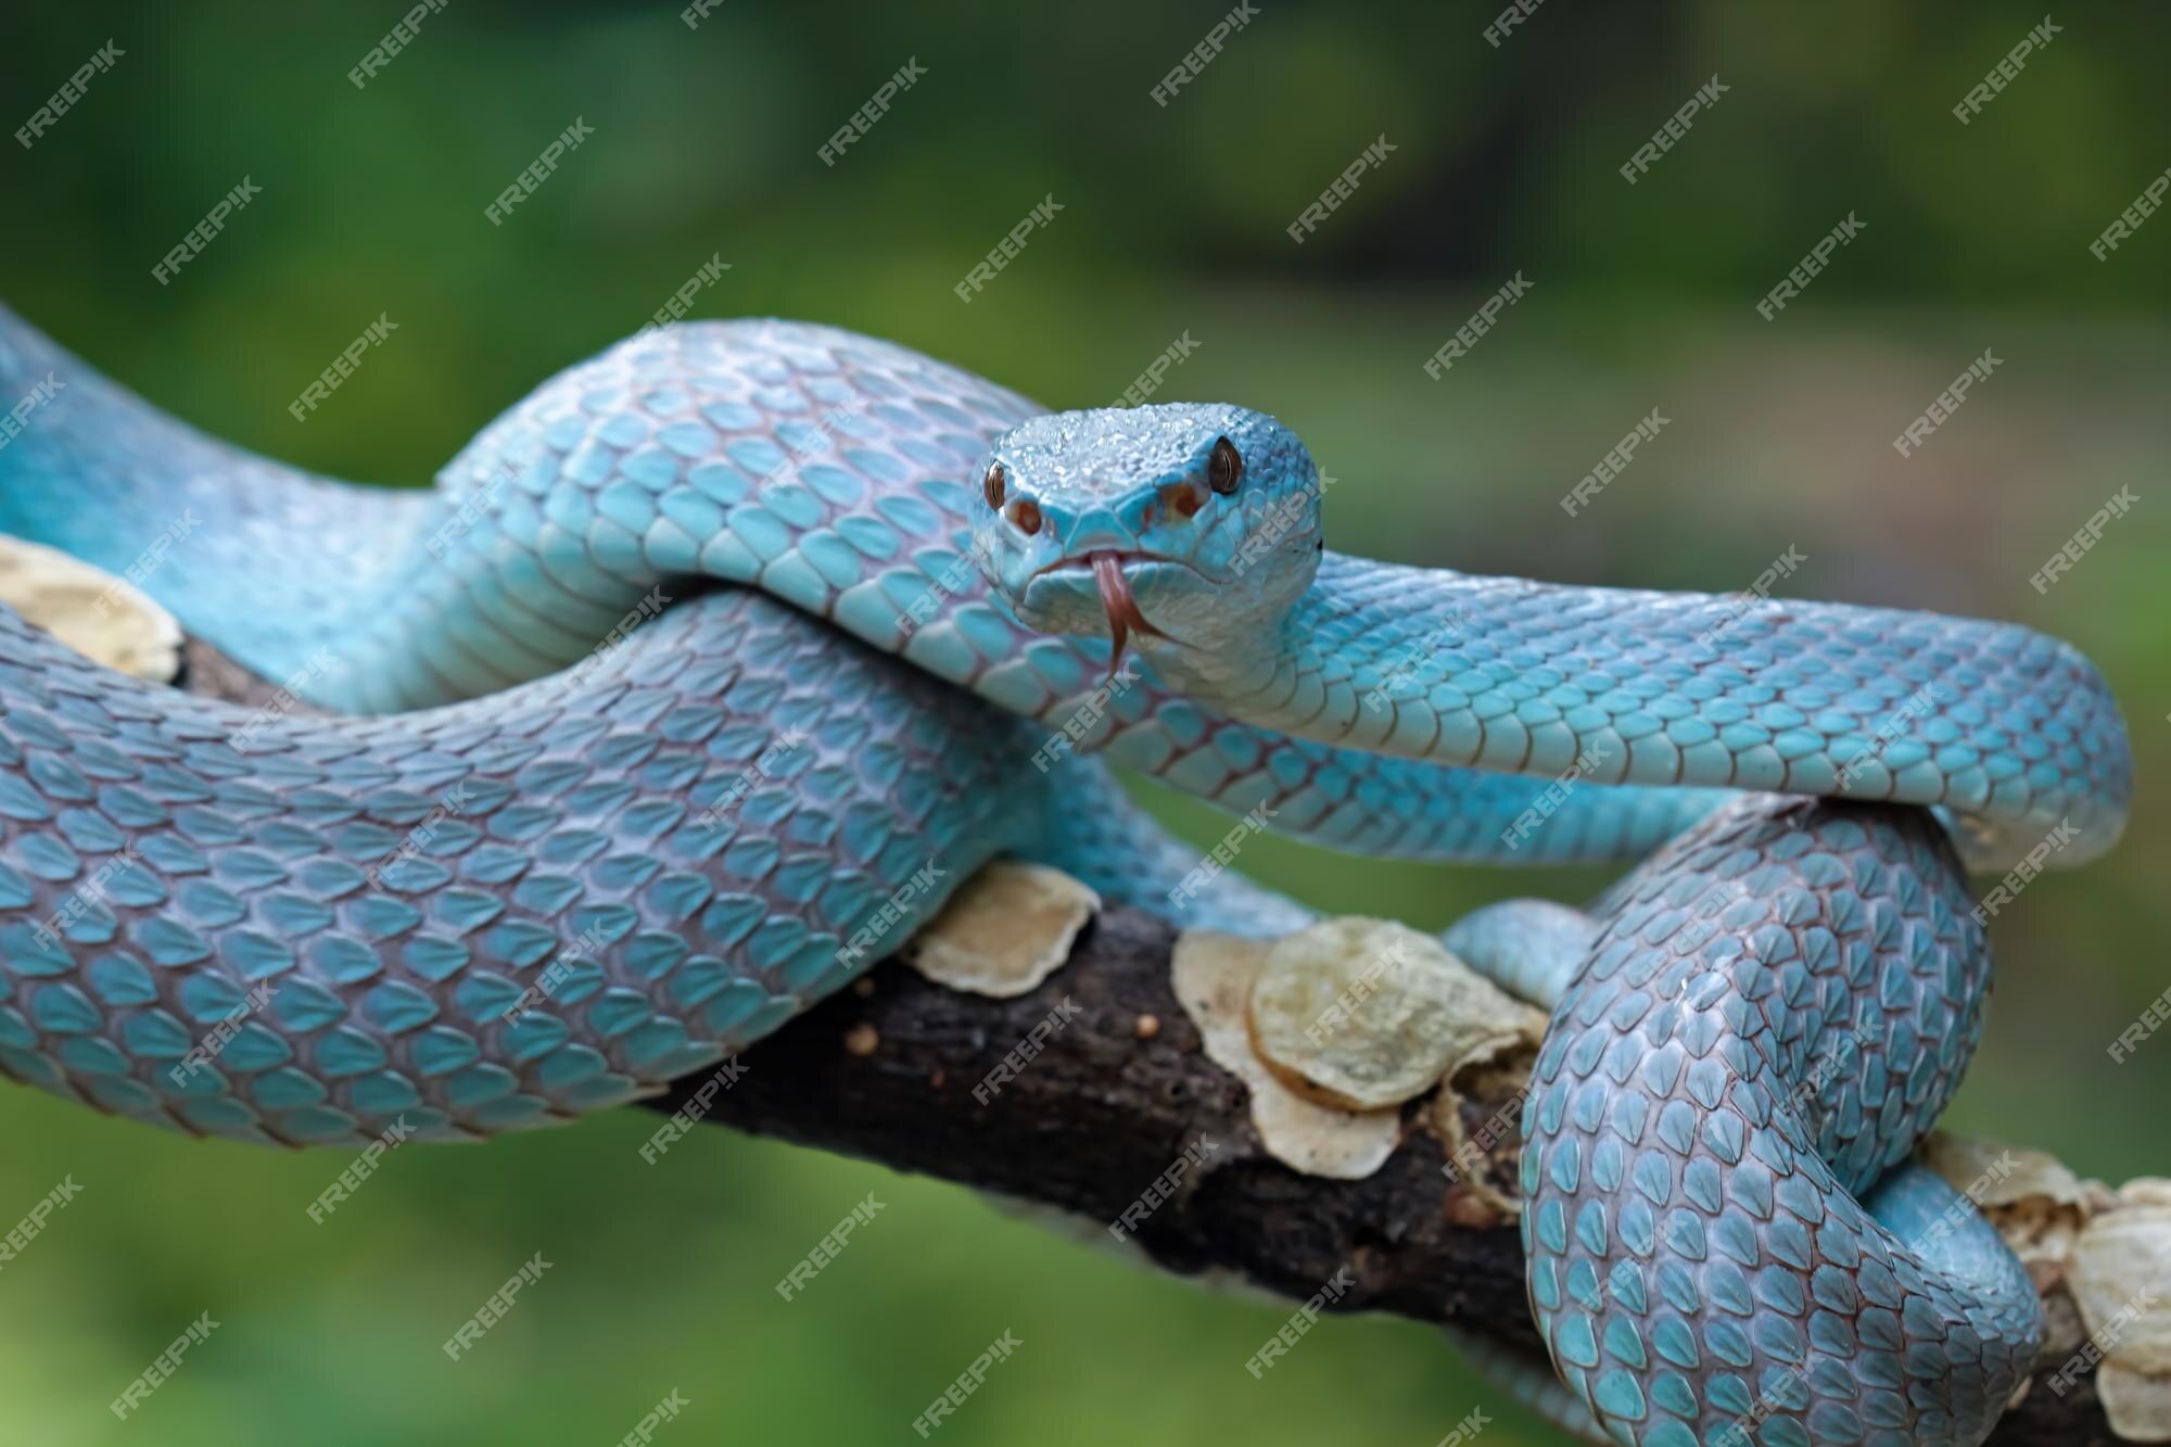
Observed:
[[[1685,784],[1937,806],[1969,863],[1995,869],[2039,850],[2078,865],[2117,841],[2125,726],[2071,645],[1774,597],[1772,582],[1652,593],[1329,552],[1257,639],[1218,656],[1148,647],[1170,687],[1246,724],[1552,776],[1561,797]]]

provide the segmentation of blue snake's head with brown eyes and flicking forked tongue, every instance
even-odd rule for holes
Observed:
[[[994,439],[973,558],[1038,632],[1222,654],[1281,624],[1320,558],[1320,480],[1244,406],[1049,413]]]

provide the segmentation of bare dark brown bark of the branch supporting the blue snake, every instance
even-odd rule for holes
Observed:
[[[187,684],[252,704],[269,695],[202,643],[189,647]],[[1172,945],[1168,923],[1109,910],[1086,928],[1068,965],[1016,999],[957,993],[892,960],[745,1052],[747,1071],[710,1095],[701,1119],[1090,1223],[1118,1221],[1205,1136],[1216,1143],[1207,1165],[1135,1232],[1155,1262],[1233,1271],[1298,1301],[1348,1267],[1357,1284],[1335,1310],[1455,1321],[1537,1360],[1515,1230],[1446,1180],[1446,1152],[1415,1123],[1415,1108],[1402,1145],[1366,1180],[1300,1175],[1268,1156],[1244,1086],[1201,1054],[1170,991]],[[1064,1002],[1077,1015],[986,1104],[975,1099],[975,1086]],[[701,1080],[651,1106],[677,1110]],[[1474,1125],[1491,1102],[1472,1110]],[[1487,1160],[1494,1182],[1513,1180],[1513,1149],[1507,1141]],[[2045,1371],[2060,1364],[2062,1354]],[[2093,1375],[2065,1397],[2041,1375],[2006,1412],[1995,1447],[2117,1445]]]

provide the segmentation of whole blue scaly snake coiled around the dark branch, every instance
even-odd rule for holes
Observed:
[[[2032,1367],[2026,1273],[1910,1154],[1982,1030],[1965,869],[2123,821],[2069,645],[1340,556],[1264,413],[1044,413],[810,324],[625,341],[434,493],[213,441],[0,309],[11,398],[0,530],[330,710],[0,608],[15,1080],[258,1143],[475,1138],[716,1067],[994,856],[1309,919],[1196,869],[1114,763],[1340,850],[1641,860],[1446,936],[1552,1008],[1522,1238],[1585,1432],[1980,1443]]]

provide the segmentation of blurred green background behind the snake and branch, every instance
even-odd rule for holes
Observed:
[[[2171,745],[2164,604],[2171,222],[2089,243],[2171,163],[2171,15],[2062,30],[1971,124],[1952,106],[2043,20],[2008,4],[1552,0],[1494,48],[1487,7],[1264,0],[1172,104],[1148,89],[1227,9],[680,7],[452,0],[367,89],[389,4],[9,7],[0,119],[106,39],[124,52],[28,150],[0,146],[0,295],[178,415],[321,471],[426,482],[530,387],[638,328],[712,254],[695,315],[894,337],[1053,406],[1101,404],[1179,335],[1164,400],[1274,411],[1344,478],[1344,550],[1474,571],[1745,587],[2013,617],[2075,639],[2125,700],[2141,802],[2115,858],[1995,926],[1991,1034],[1947,1123],[2084,1173],[2171,1169],[2171,1039],[2106,1045],[2167,984],[2151,789]],[[2108,7],[2099,7],[2108,11]],[[816,148],[907,56],[925,70],[838,165]],[[1637,185],[1617,167],[1728,87]],[[595,135],[502,228],[482,209],[562,128]],[[1296,246],[1283,228],[1374,137],[1394,152]],[[250,176],[263,193],[169,287],[150,267]],[[1064,211],[994,282],[951,287],[1033,202]],[[1754,302],[1843,217],[1798,302]],[[1442,380],[1420,365],[1522,272],[1533,291]],[[304,382],[399,330],[306,426]],[[1891,439],[1991,348],[2004,365],[1913,456]],[[1594,506],[1561,493],[1659,408]],[[2045,595],[2121,485],[2141,504]],[[1198,839],[1222,823],[1166,806]],[[1596,873],[1470,873],[1283,843],[1246,869],[1333,910],[1444,926]],[[0,1273],[0,1440],[918,1440],[1001,1330],[1025,1345],[940,1427],[979,1443],[1392,1443],[1472,1408],[1559,1440],[1437,1334],[1311,1332],[951,1186],[703,1130],[660,1167],[617,1112],[393,1154],[326,1225],[341,1154],[267,1154],[4,1091],[0,1221],[82,1195]],[[773,1282],[868,1191],[814,1286]],[[530,1254],[551,1271],[460,1362],[439,1343]],[[126,1425],[106,1410],[208,1308],[221,1328]]]

